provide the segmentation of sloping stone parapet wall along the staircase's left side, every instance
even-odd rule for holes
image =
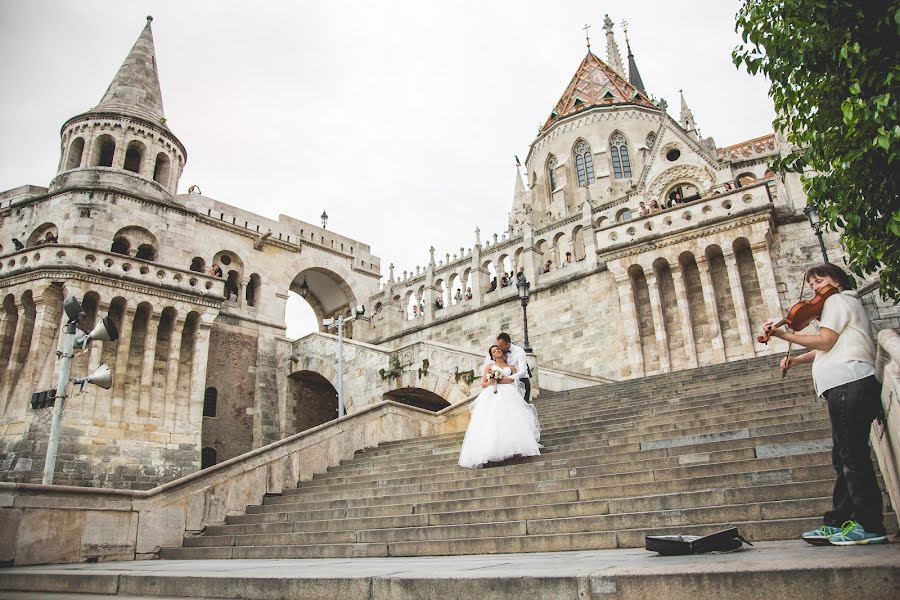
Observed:
[[[378,444],[463,431],[468,402],[380,402],[147,491],[0,483],[0,565],[154,558]]]

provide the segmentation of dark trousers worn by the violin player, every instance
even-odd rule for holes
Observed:
[[[869,533],[884,533],[881,490],[869,455],[869,429],[881,414],[881,384],[875,376],[825,392],[831,418],[831,462],[837,472],[832,509],[825,524],[854,520]]]

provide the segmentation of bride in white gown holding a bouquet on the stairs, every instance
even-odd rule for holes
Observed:
[[[500,346],[491,346],[489,354],[493,362],[481,375],[483,389],[472,403],[472,419],[459,453],[460,466],[470,469],[541,453],[537,411],[525,402],[518,378],[512,377],[516,368],[506,363]]]

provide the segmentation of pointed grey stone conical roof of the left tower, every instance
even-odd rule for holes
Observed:
[[[125,57],[100,103],[90,112],[121,113],[165,125],[156,50],[150,29],[152,21],[153,17],[147,17],[147,24],[134,47]]]

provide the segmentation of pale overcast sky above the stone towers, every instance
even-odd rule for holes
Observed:
[[[734,0],[0,0],[0,191],[46,186],[59,128],[93,107],[153,35],[167,123],[188,151],[179,192],[319,223],[382,272],[506,229],[524,160],[603,15],[647,90],[727,146],[770,133],[767,85],[735,69]],[[301,328],[302,329],[302,328]],[[294,328],[294,333],[299,330]]]

